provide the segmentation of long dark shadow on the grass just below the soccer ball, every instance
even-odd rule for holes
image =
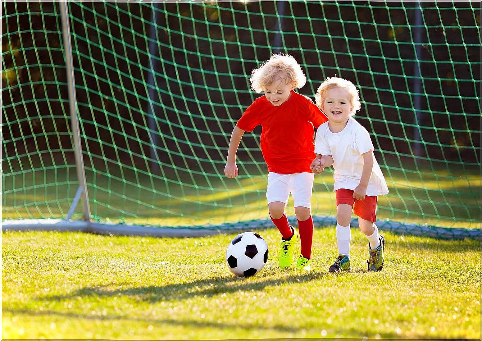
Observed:
[[[166,300],[185,300],[196,296],[212,297],[218,294],[231,294],[237,291],[261,291],[266,286],[279,286],[291,283],[303,283],[321,278],[326,273],[312,272],[309,274],[286,273],[280,278],[268,278],[279,273],[279,269],[268,269],[263,276],[255,277],[214,277],[200,279],[193,282],[180,282],[165,286],[143,286],[131,288],[112,289],[112,286],[84,287],[69,295],[49,296],[47,300],[67,300],[80,297],[115,297],[135,296],[139,300],[155,303]],[[114,286],[124,284],[116,283]],[[126,283],[126,285],[128,285]]]

